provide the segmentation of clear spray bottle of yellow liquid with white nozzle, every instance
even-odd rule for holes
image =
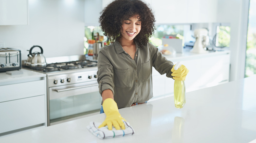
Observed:
[[[178,70],[181,67],[181,62],[178,62],[174,70]],[[182,108],[186,103],[185,98],[185,82],[184,80],[174,80],[174,104],[176,108]]]

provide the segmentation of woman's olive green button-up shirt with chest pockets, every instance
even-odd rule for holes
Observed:
[[[101,48],[98,53],[99,93],[112,90],[119,109],[132,103],[144,103],[153,97],[152,67],[172,78],[173,63],[158,48],[151,43],[139,48],[136,44],[136,47],[134,59],[118,41]]]

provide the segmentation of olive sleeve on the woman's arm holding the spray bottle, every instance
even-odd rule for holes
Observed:
[[[152,65],[153,67],[160,73],[160,74],[164,74],[166,73],[167,77],[172,78],[173,76],[172,74],[172,67],[173,62],[167,60],[162,53],[158,50],[157,47],[155,47],[154,45],[152,45],[151,43],[149,43],[149,50],[152,56]]]

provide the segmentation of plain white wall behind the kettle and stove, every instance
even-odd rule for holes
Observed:
[[[0,25],[0,42],[20,49],[23,60],[33,45],[45,57],[83,55],[83,38],[84,0],[29,0],[29,25]]]

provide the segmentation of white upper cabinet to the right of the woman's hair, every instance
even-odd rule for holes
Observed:
[[[216,0],[151,0],[156,24],[216,22],[217,4]]]

